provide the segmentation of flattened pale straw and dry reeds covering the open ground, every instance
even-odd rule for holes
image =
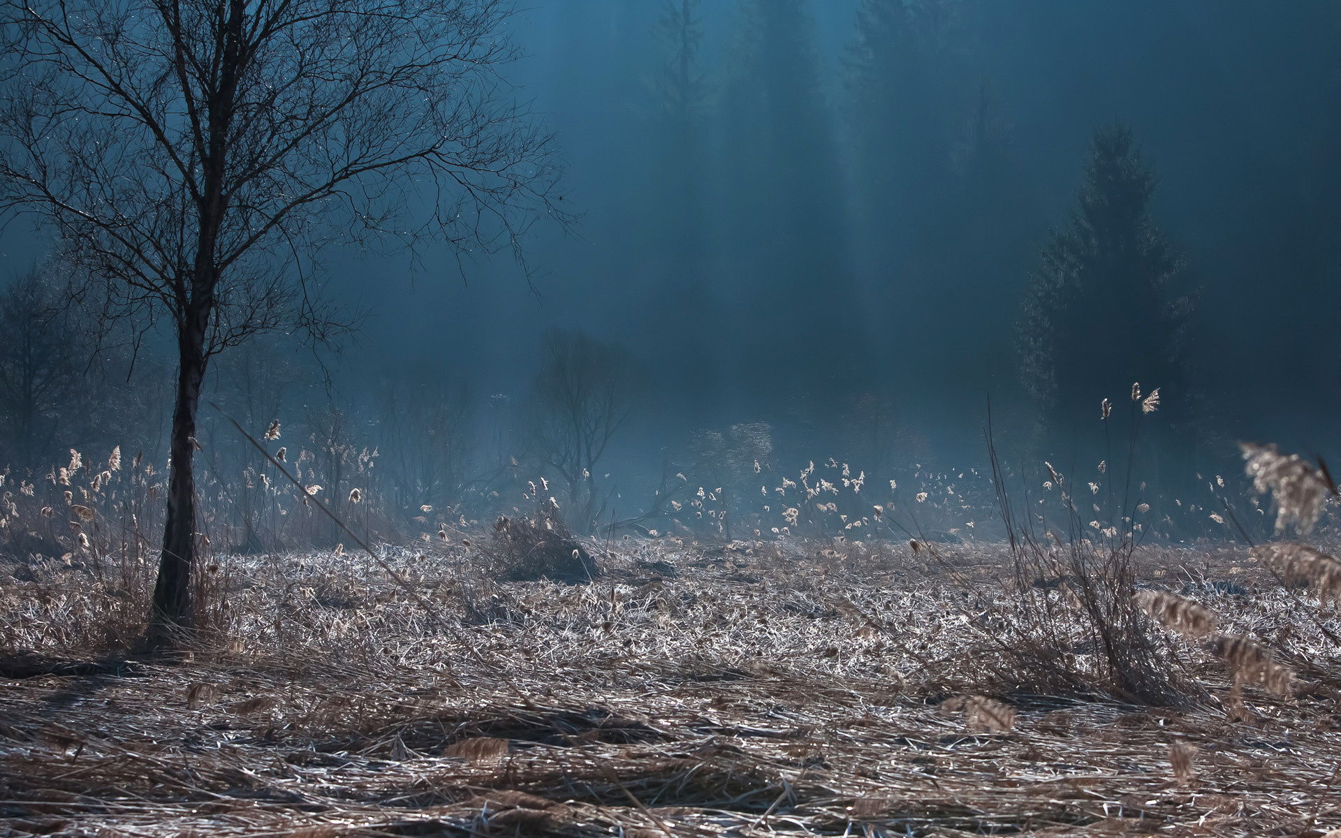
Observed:
[[[394,578],[232,558],[220,627],[173,661],[76,648],[125,599],[78,566],[7,570],[0,835],[1341,826],[1332,611],[1232,548],[1141,554],[1295,668],[1227,713],[1223,666],[1179,638],[1177,707],[1003,686],[1002,547],[618,547],[577,585],[496,583],[468,551],[389,551]]]

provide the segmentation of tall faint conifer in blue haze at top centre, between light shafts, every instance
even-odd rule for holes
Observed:
[[[854,378],[860,308],[848,268],[831,117],[805,0],[742,0],[723,98],[725,267],[756,385]],[[810,341],[795,366],[779,341]]]

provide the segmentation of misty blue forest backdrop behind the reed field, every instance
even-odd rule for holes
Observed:
[[[207,373],[197,459],[239,544],[264,491],[223,414],[279,420],[329,503],[361,488],[408,538],[551,495],[582,531],[665,527],[676,475],[724,531],[830,459],[916,503],[980,475],[988,400],[1010,457],[1092,468],[1133,381],[1163,400],[1152,495],[1238,471],[1235,438],[1329,449],[1334,4],[582,0],[507,25],[575,224],[535,228],[530,282],[445,249],[311,265],[357,328]],[[3,244],[11,479],[71,448],[164,460],[170,338],[64,304],[23,223]]]

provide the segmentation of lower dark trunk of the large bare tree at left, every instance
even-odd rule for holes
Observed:
[[[174,645],[192,627],[190,570],[196,559],[196,477],[193,465],[196,412],[205,377],[205,330],[185,318],[177,345],[177,406],[172,417],[172,464],[168,473],[168,522],[158,559],[158,582],[150,605],[150,648]]]

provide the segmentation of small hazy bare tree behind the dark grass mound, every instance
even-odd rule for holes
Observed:
[[[550,330],[531,392],[531,437],[539,457],[567,484],[565,519],[590,531],[605,510],[595,465],[633,409],[634,378],[624,347],[579,331]]]

